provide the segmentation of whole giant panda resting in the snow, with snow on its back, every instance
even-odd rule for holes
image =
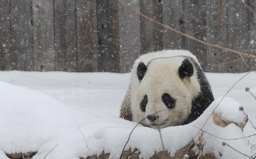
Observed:
[[[184,125],[196,120],[212,101],[197,58],[184,50],[163,50],[135,61],[120,118],[137,123],[145,118],[141,124],[156,129]]]

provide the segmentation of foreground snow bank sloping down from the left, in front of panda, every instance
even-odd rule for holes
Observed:
[[[72,159],[99,155],[102,151],[110,152],[110,158],[119,158],[131,130],[137,124],[108,113],[68,106],[53,97],[26,87],[5,82],[0,82],[0,87],[2,88],[0,92],[0,158],[6,158],[3,151],[7,153],[38,151],[33,158],[44,158],[56,145],[46,158]],[[202,127],[217,103],[212,103],[193,123],[161,129],[165,149],[174,155],[188,142],[192,140],[198,142],[199,136],[194,139],[199,131],[195,125]],[[228,107],[239,105],[230,98],[224,98],[222,105],[224,104]],[[239,115],[236,112],[239,111],[237,108],[231,109],[230,106],[230,109],[225,109],[222,105],[217,110],[223,114]],[[223,138],[244,137],[241,129],[236,125],[229,124],[223,128],[215,125],[212,118],[203,130]],[[216,155],[221,153],[222,158],[244,157],[229,147],[223,148],[223,140],[207,134],[204,139],[207,143],[204,143],[205,148],[202,153],[214,152]],[[250,146],[247,145],[246,139],[225,142],[233,147],[242,148],[243,153],[250,154]],[[139,149],[142,158],[150,158],[155,152],[163,150],[158,130],[139,125],[132,133],[125,150],[130,148]]]

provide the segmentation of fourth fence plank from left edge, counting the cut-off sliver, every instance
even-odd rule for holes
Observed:
[[[75,72],[76,1],[54,1],[55,70]]]

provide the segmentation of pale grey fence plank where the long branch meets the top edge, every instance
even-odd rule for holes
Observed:
[[[125,0],[124,2],[140,10],[139,1]],[[119,44],[120,72],[130,72],[140,54],[140,18],[138,14],[122,5],[119,7]]]

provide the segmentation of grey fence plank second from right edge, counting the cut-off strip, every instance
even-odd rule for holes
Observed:
[[[244,0],[248,4],[247,0]],[[247,18],[246,18],[247,17]],[[248,52],[249,45],[249,12],[242,1],[228,1],[228,47],[233,50]],[[249,71],[239,55],[226,56],[229,61],[227,72],[240,73]],[[239,59],[239,60],[238,60]],[[248,63],[248,60],[245,59]]]

